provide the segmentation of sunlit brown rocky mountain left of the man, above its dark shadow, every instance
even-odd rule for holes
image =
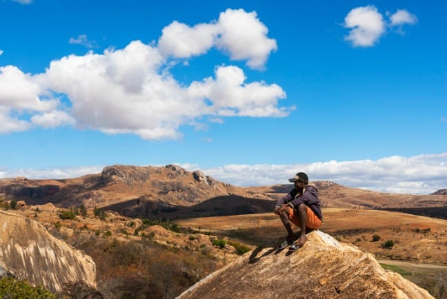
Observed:
[[[154,201],[190,206],[216,196],[235,194],[266,198],[247,189],[235,187],[205,176],[200,171],[188,172],[176,165],[138,167],[114,165],[101,174],[90,174],[63,180],[0,180],[0,197],[24,200],[28,205],[53,203],[58,207],[103,207],[127,200]]]

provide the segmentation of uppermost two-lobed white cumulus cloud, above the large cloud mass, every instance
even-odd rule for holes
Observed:
[[[244,28],[244,30],[241,30]],[[163,55],[188,58],[217,47],[232,60],[246,60],[250,68],[260,69],[271,52],[277,50],[275,39],[267,37],[268,28],[256,12],[228,9],[217,21],[190,27],[178,21],[163,28],[158,48]]]

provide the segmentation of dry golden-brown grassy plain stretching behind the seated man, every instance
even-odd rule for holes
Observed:
[[[447,220],[369,209],[324,208],[324,231],[377,258],[447,265]],[[286,236],[275,214],[250,214],[177,220],[177,224],[238,238],[250,245],[274,246]],[[295,231],[299,229],[295,228]],[[380,240],[373,242],[373,236]],[[393,240],[386,249],[383,244]]]

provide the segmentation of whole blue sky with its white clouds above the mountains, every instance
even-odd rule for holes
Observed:
[[[447,188],[445,1],[151,2],[0,2],[0,178]]]

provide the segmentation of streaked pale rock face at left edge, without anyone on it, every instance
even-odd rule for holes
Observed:
[[[0,267],[53,292],[67,283],[96,287],[96,265],[90,256],[14,212],[0,211]]]

